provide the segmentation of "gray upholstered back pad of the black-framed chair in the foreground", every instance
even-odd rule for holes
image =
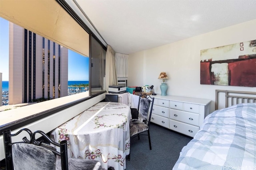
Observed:
[[[42,144],[55,149],[47,144]],[[43,147],[27,143],[12,145],[12,159],[15,170],[55,170],[55,154]]]

